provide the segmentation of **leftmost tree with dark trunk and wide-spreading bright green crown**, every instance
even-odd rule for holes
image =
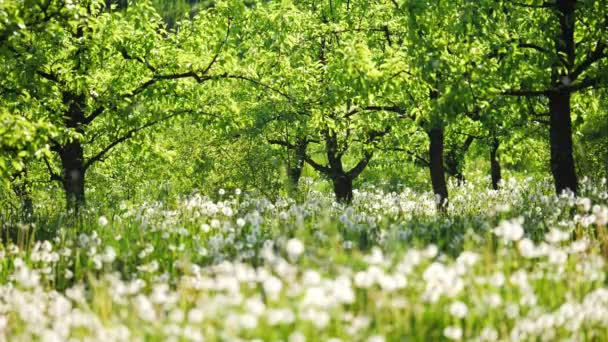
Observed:
[[[179,33],[165,31],[148,2],[122,12],[108,10],[103,1],[48,1],[25,11],[32,18],[25,22],[42,17],[44,24],[22,25],[7,39],[2,85],[18,89],[21,101],[39,108],[33,116],[60,128],[51,150],[61,171],[53,160],[45,161],[51,178],[62,184],[68,209],[84,204],[87,170],[115,146],[204,109],[205,101],[187,103],[193,85],[233,77],[217,70],[233,29],[231,11],[218,6]]]

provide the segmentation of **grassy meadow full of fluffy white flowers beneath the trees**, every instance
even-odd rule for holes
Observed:
[[[32,238],[45,235],[35,224],[11,237],[5,223],[1,335],[605,340],[605,187],[558,198],[532,184],[467,183],[445,215],[407,190],[360,191],[348,208],[315,192],[272,203],[222,191],[55,218],[50,240]]]

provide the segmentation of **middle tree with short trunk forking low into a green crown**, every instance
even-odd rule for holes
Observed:
[[[260,5],[256,25],[263,28],[251,29],[261,32],[251,41],[265,42],[256,70],[274,85],[267,89],[274,94],[268,105],[254,112],[269,117],[268,141],[303,158],[345,203],[395,118],[369,105],[382,87],[373,50],[383,33],[361,28],[378,19],[371,9],[358,1]],[[294,181],[300,160],[292,168]]]

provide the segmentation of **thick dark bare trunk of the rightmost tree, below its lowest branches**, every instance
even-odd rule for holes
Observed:
[[[571,94],[567,91],[549,96],[551,172],[558,195],[565,190],[575,194],[578,191],[572,147],[570,98]]]

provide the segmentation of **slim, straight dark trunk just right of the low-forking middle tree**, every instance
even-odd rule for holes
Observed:
[[[445,211],[448,203],[448,187],[445,182],[443,166],[443,128],[432,128],[428,135],[430,138],[429,155],[433,193],[437,196],[437,209]]]

